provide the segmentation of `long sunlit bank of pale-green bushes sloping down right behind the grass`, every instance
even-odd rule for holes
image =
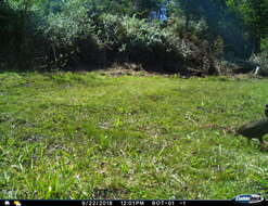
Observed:
[[[87,65],[99,62],[99,66],[130,62],[165,73],[192,68],[215,73],[207,43],[195,36],[180,37],[157,21],[107,13],[91,20],[84,5],[67,4],[63,12],[47,18],[42,31],[50,46],[49,67],[74,66],[75,61]]]

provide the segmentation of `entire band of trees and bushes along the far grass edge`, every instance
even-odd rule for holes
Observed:
[[[167,3],[168,21],[150,20]],[[218,74],[222,62],[267,68],[266,0],[2,0],[1,67]]]

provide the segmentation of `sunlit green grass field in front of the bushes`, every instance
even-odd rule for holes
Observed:
[[[0,74],[0,198],[232,198],[268,191],[233,130],[268,80]]]

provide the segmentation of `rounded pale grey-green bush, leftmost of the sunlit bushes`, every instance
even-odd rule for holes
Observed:
[[[76,60],[90,59],[81,56],[81,53],[99,50],[93,36],[93,22],[88,17],[87,10],[77,2],[69,1],[63,12],[50,14],[40,29],[49,46],[48,67],[66,67]]]

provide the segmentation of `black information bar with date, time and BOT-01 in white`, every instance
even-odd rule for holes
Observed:
[[[0,206],[231,206],[231,205],[267,205],[242,204],[234,201],[173,201],[173,199],[80,199],[80,201],[37,201],[37,199],[0,199]]]

